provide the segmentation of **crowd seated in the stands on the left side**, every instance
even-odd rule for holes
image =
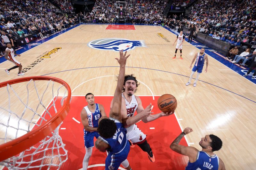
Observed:
[[[77,16],[58,14],[59,8],[47,0],[0,2],[0,51],[6,43],[18,47],[16,40],[32,35],[34,39],[47,36],[78,23]]]

